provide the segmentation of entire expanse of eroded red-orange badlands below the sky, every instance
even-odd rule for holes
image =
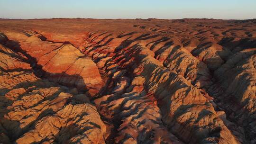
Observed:
[[[0,19],[2,144],[256,144],[256,19]]]

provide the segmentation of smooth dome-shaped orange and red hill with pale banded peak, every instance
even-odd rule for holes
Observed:
[[[38,60],[46,77],[65,86],[88,90],[91,96],[97,94],[102,85],[98,67],[73,45],[62,45]]]

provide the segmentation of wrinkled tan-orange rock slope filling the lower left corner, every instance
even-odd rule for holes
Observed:
[[[28,63],[0,55],[6,60],[0,70],[0,143],[105,143],[106,126],[86,95],[42,80]]]

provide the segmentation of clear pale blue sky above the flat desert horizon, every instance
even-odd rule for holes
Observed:
[[[0,0],[0,18],[256,18],[256,0]]]

